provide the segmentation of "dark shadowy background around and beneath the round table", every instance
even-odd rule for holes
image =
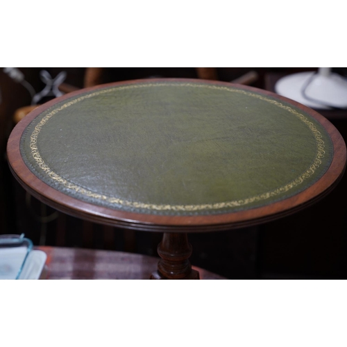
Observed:
[[[35,92],[40,71],[66,71],[63,92],[85,85],[85,68],[19,68]],[[281,76],[316,68],[216,68],[219,81],[242,81],[273,91]],[[333,71],[346,76],[346,68]],[[195,68],[107,68],[101,83],[137,78],[198,78]],[[239,78],[242,78],[241,80]],[[27,86],[0,68],[0,234],[24,232],[35,245],[100,248],[157,255],[161,235],[82,221],[31,198],[8,169],[6,142],[15,112],[31,104]],[[52,98],[53,96],[50,96]],[[49,98],[42,100],[48,101]],[[347,110],[322,111],[347,139]],[[347,278],[346,175],[334,192],[311,208],[254,228],[189,235],[191,261],[227,278]]]

